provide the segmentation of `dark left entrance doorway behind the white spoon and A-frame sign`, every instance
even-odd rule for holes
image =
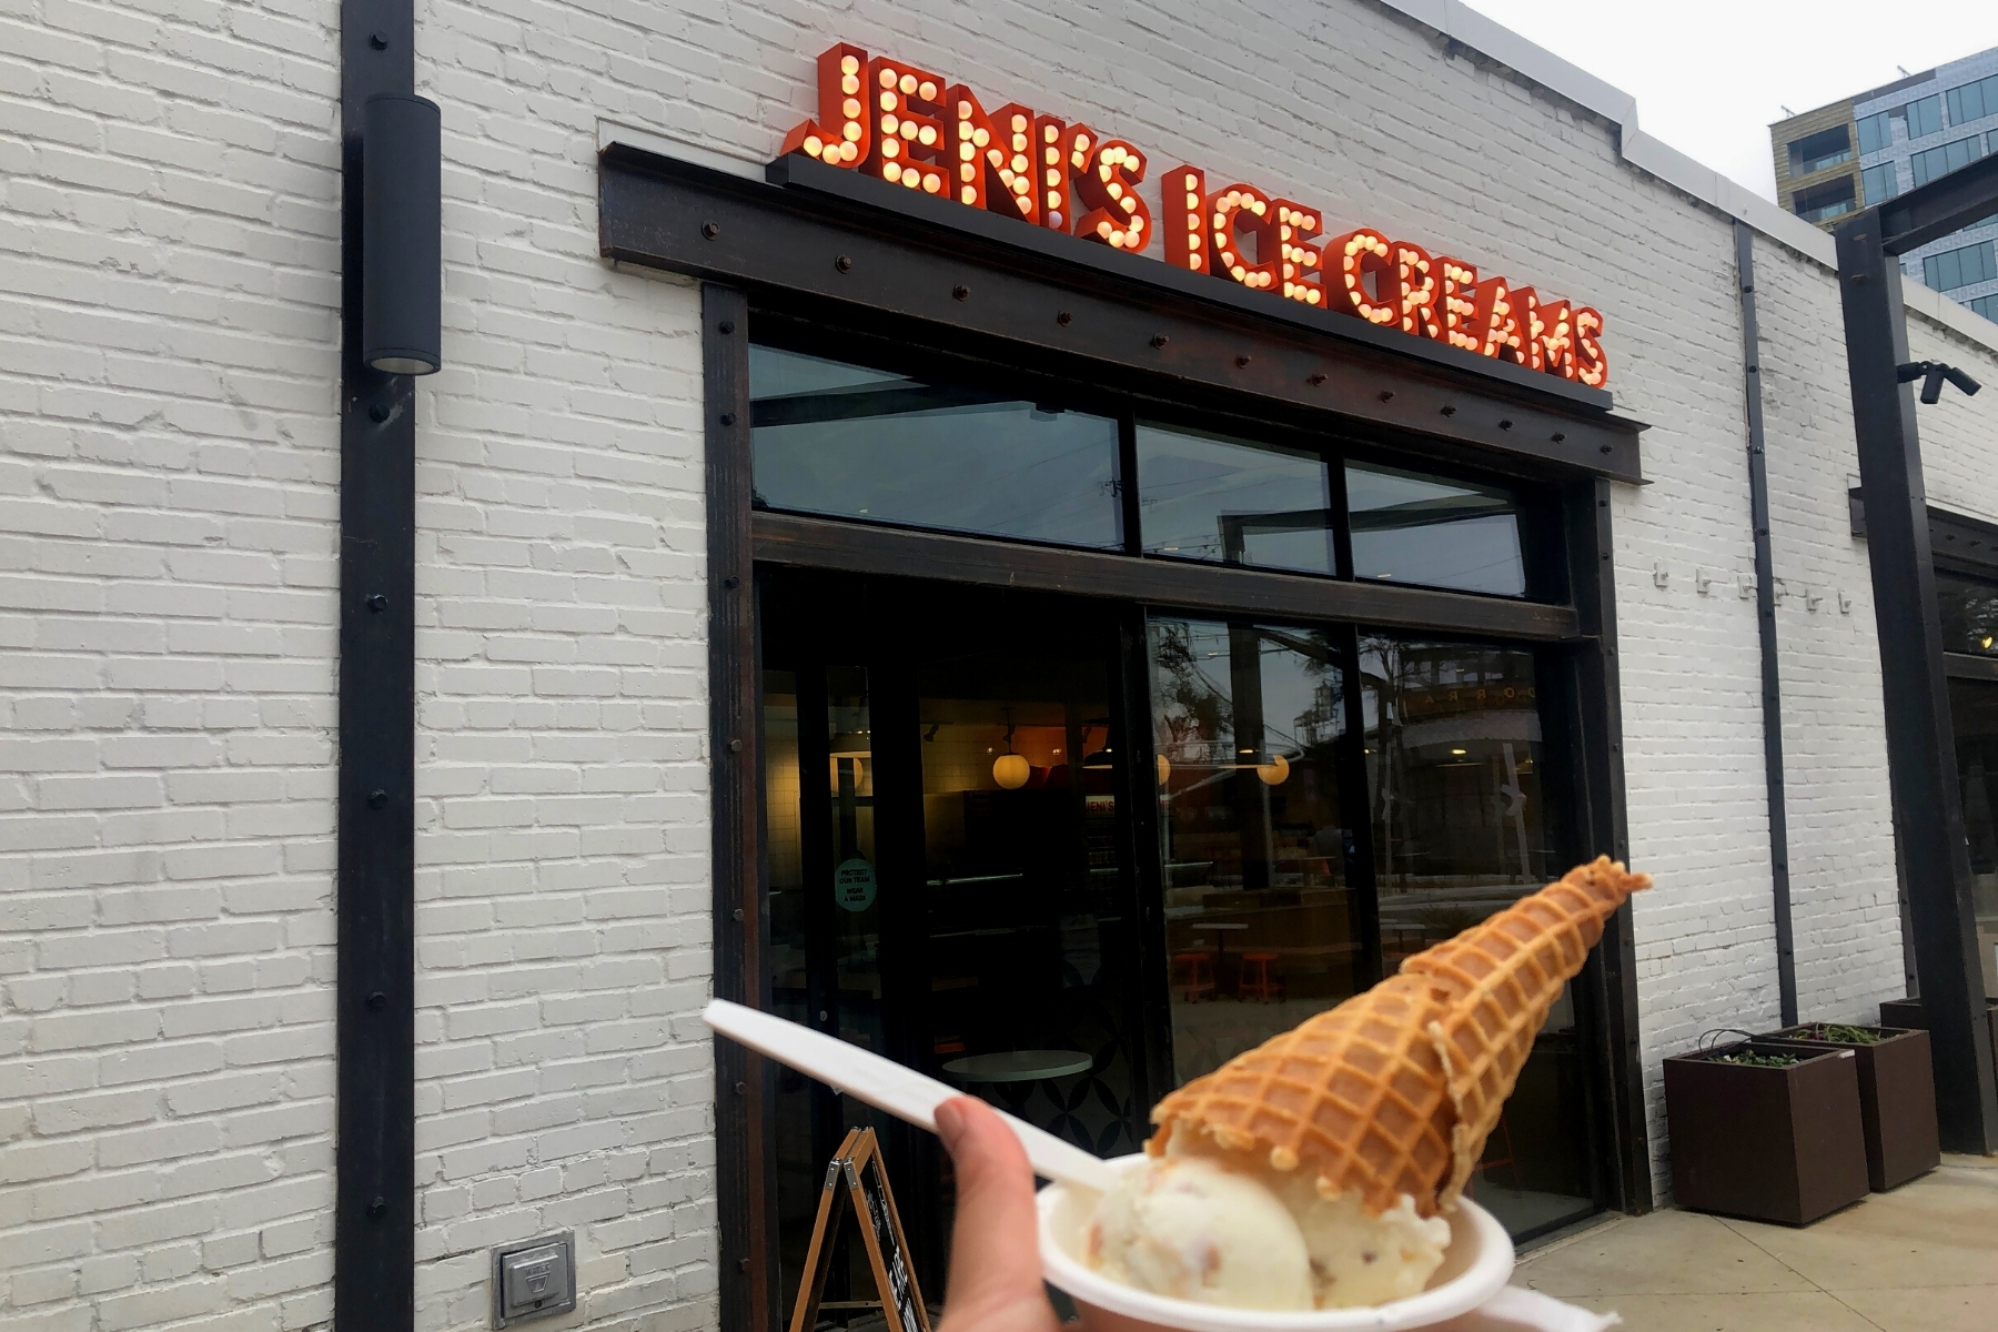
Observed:
[[[1097,603],[771,573],[765,839],[773,1004],[1099,1154],[1139,1148],[1145,943],[1115,767],[1117,617]],[[881,1134],[943,1298],[949,1162],[929,1134],[781,1072],[785,1308],[847,1128]],[[829,1316],[871,1294],[845,1244]]]

